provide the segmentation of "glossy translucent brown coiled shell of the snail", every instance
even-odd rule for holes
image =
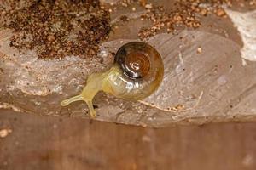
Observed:
[[[122,99],[148,97],[163,79],[164,65],[160,54],[144,42],[129,42],[119,48],[104,91]]]

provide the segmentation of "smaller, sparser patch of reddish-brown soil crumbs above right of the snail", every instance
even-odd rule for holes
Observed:
[[[226,14],[223,7],[231,4],[230,0],[177,0],[172,11],[166,12],[164,7],[148,3],[144,6],[147,13],[141,15],[141,20],[151,20],[153,24],[149,28],[141,29],[138,36],[145,39],[162,30],[174,32],[180,27],[201,27],[200,15],[207,16],[213,13],[218,17],[224,17]]]

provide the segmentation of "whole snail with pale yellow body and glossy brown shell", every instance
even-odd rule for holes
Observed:
[[[145,42],[128,42],[119,48],[108,71],[91,74],[82,93],[63,100],[61,105],[83,100],[94,117],[92,99],[99,91],[131,101],[144,99],[160,86],[163,74],[163,61],[156,49]]]

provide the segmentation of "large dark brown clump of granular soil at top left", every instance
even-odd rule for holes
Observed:
[[[0,6],[3,26],[15,32],[10,46],[33,49],[39,58],[90,58],[111,29],[99,0],[8,0]]]

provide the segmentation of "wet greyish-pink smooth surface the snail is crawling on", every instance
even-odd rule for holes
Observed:
[[[122,12],[127,14],[122,10],[119,14]],[[1,107],[38,115],[90,118],[85,103],[61,107],[61,100],[79,94],[91,73],[108,70],[113,53],[122,44],[139,41],[137,32],[147,21],[140,20],[137,13],[128,15],[131,19],[125,22],[115,20],[112,14],[115,28],[92,59],[38,59],[34,51],[9,47],[13,32],[1,29]],[[138,102],[99,93],[94,100],[95,119],[149,127],[254,120],[256,64],[241,57],[241,33],[229,17],[207,16],[201,25],[196,30],[160,32],[146,40],[164,60],[160,88]]]

